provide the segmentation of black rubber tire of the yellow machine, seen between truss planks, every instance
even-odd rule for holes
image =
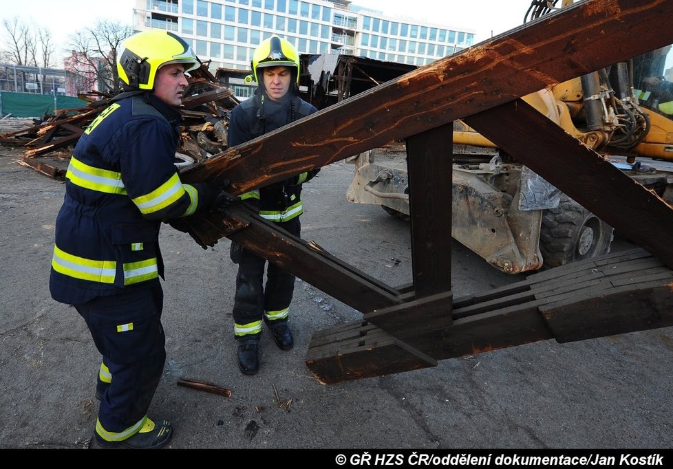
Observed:
[[[562,195],[558,208],[542,214],[540,252],[544,268],[607,254],[613,235],[612,226]]]

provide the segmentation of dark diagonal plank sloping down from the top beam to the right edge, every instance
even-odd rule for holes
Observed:
[[[615,230],[673,267],[671,206],[524,100],[469,116],[465,122]],[[615,206],[621,210],[615,210]]]

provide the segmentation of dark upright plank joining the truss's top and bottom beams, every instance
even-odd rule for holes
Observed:
[[[412,278],[416,298],[451,290],[453,122],[407,138]],[[451,321],[451,303],[446,308]],[[385,327],[384,327],[385,329]]]

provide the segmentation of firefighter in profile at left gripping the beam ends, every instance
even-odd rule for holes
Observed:
[[[56,218],[50,291],[74,305],[103,356],[94,435],[100,446],[158,448],[173,428],[147,409],[166,352],[161,325],[161,221],[209,206],[209,184],[176,171],[185,72],[200,66],[179,36],[144,31],[117,62],[124,91],[85,129],[66,174]]]

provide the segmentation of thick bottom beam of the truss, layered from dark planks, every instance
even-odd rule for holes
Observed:
[[[419,329],[423,312],[414,312],[413,300],[406,310],[417,317],[398,321],[409,329],[387,320],[392,315],[385,309],[365,314],[314,334],[306,364],[320,382],[331,384],[538,340],[572,342],[666,327],[673,325],[672,290],[673,270],[659,259],[640,248],[617,252],[459,298],[444,325],[427,320]]]

